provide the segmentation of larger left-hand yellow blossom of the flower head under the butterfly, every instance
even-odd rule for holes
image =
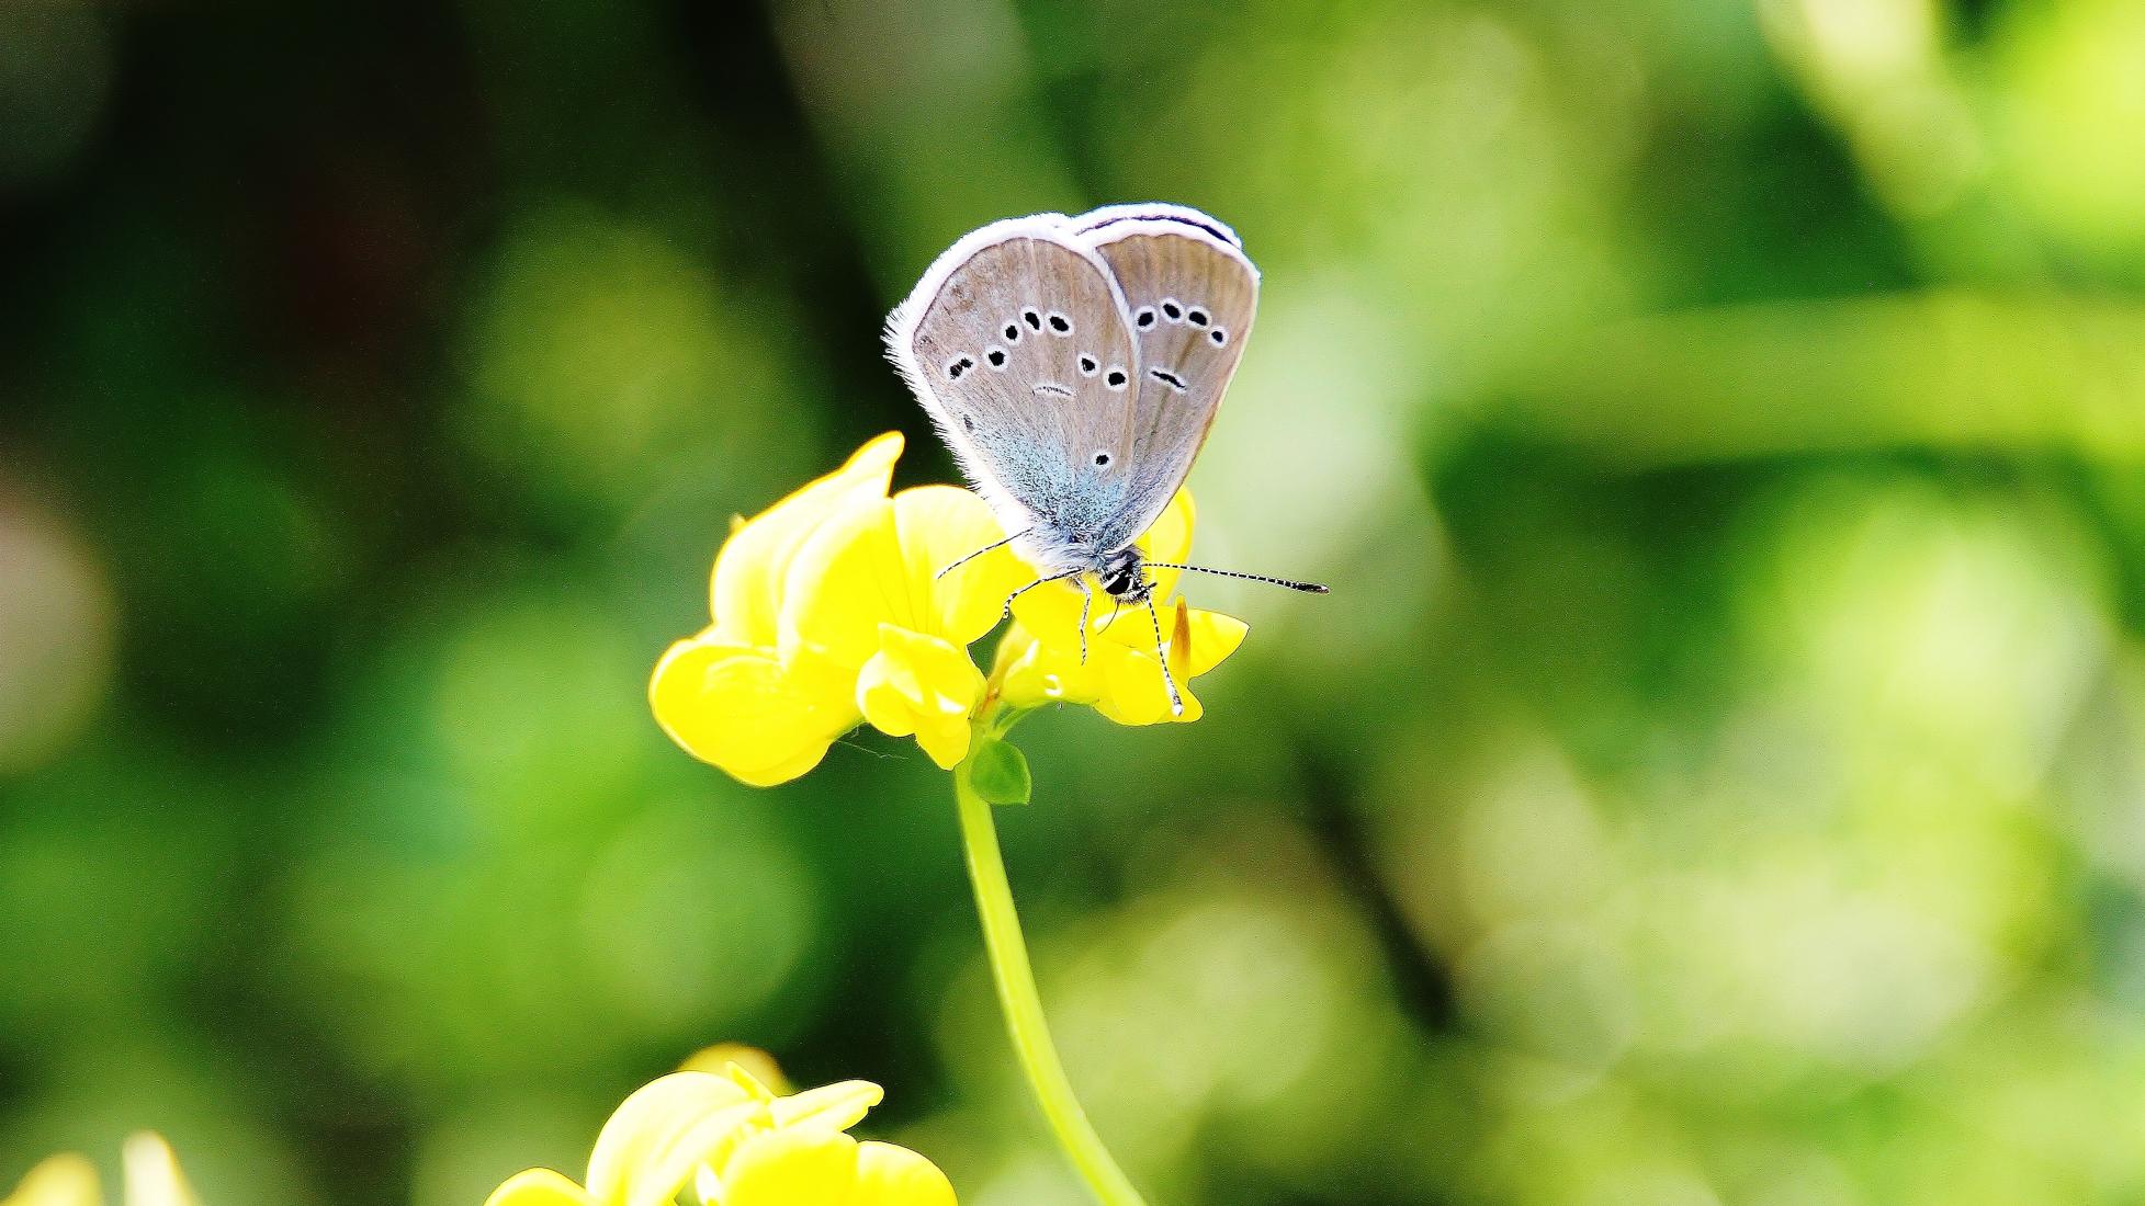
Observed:
[[[1010,551],[940,581],[1000,538],[989,508],[950,486],[886,497],[901,435],[738,525],[714,559],[714,623],[663,653],[648,700],[689,754],[768,786],[819,765],[869,720],[916,735],[942,767],[967,754],[982,675],[967,645],[1030,581]]]

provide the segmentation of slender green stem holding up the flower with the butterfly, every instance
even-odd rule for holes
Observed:
[[[1002,728],[1000,728],[1002,730]],[[980,724],[976,739],[993,730]],[[1036,973],[1027,966],[1027,940],[1021,938],[1021,917],[1012,908],[1012,885],[1006,883],[1006,859],[997,850],[997,825],[991,805],[970,786],[970,765],[952,771],[955,803],[961,810],[961,846],[967,855],[967,878],[976,885],[976,913],[982,915],[982,945],[991,953],[991,979],[997,981],[997,1005],[1006,1013],[1012,1052],[1027,1073],[1027,1086],[1042,1105],[1057,1144],[1072,1167],[1105,1206],[1145,1206],[1118,1161],[1109,1157],[1103,1137],[1088,1122],[1088,1112],[1072,1097],[1072,1082],[1057,1062],[1049,1024],[1042,1020],[1042,998],[1036,996]]]

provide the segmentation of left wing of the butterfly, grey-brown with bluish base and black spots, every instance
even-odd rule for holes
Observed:
[[[886,343],[1008,533],[1085,540],[1122,512],[1139,356],[1109,266],[1062,216],[957,242],[888,317]]]

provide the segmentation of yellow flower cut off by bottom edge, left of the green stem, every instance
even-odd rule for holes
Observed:
[[[845,1131],[879,1103],[860,1080],[794,1097],[744,1069],[676,1071],[626,1099],[596,1135],[588,1185],[532,1167],[485,1206],[955,1206],[946,1174],[892,1144]]]

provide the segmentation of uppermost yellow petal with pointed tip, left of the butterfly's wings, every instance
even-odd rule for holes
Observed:
[[[858,501],[884,499],[899,456],[901,433],[890,431],[858,448],[841,469],[738,527],[714,557],[714,625],[738,643],[772,647],[789,559],[828,516]]]

